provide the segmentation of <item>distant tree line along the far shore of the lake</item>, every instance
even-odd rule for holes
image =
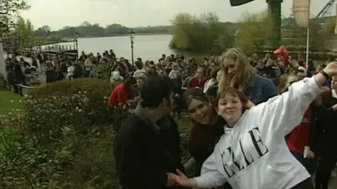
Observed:
[[[147,26],[132,29],[136,34],[171,34],[171,26]],[[74,34],[78,34],[79,37],[116,36],[129,34],[130,31],[130,27],[119,24],[101,27],[98,23],[92,25],[90,22],[83,22],[77,27],[67,26],[58,31],[51,31],[51,27],[45,25],[35,30],[34,35],[37,37],[73,38]]]

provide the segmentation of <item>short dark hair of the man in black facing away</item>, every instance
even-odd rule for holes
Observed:
[[[170,102],[173,83],[167,76],[148,76],[140,88],[140,98],[143,107],[156,108],[164,98]]]

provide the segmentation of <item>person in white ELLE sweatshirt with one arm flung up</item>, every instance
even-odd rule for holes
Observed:
[[[291,155],[284,136],[300,123],[322,85],[337,75],[331,62],[312,78],[289,87],[267,102],[246,107],[248,99],[230,87],[218,98],[217,112],[227,125],[213,153],[204,162],[201,176],[187,179],[169,173],[178,186],[216,188],[228,182],[234,189],[311,189],[310,174]]]

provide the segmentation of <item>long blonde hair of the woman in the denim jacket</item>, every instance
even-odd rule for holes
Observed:
[[[222,92],[227,87],[231,86],[232,79],[228,73],[228,68],[223,66],[223,62],[225,59],[232,59],[236,62],[237,67],[237,90],[240,92],[245,92],[247,85],[249,84],[249,80],[251,78],[251,74],[253,73],[253,67],[249,64],[249,59],[244,54],[244,52],[239,48],[230,48],[226,52],[223,52],[223,55],[220,57],[220,68],[223,72],[223,76],[220,80],[218,93]]]

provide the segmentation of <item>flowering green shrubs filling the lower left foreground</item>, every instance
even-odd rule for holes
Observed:
[[[1,116],[0,188],[119,188],[114,135],[131,109],[107,108],[112,87],[90,78],[42,85],[22,98],[23,115]],[[178,121],[184,161],[187,122]]]

